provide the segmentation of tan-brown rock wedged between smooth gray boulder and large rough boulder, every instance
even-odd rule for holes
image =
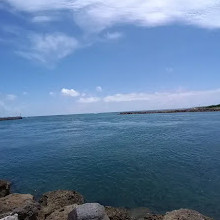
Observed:
[[[69,213],[76,207],[77,204],[65,206],[64,208],[52,212],[48,217],[46,217],[46,220],[67,220]]]

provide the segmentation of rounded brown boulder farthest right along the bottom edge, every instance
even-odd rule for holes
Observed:
[[[179,209],[179,210],[174,210],[172,212],[167,212],[163,220],[212,220],[212,219],[194,210]]]

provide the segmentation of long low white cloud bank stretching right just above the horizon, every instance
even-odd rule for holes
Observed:
[[[190,107],[220,103],[220,89],[186,91],[178,89],[175,92],[154,92],[154,93],[118,93],[105,97],[83,96],[73,89],[62,89],[61,93],[66,96],[80,96],[77,100],[79,103],[106,103],[117,107],[127,106],[128,110],[132,107],[140,109],[161,109]],[[129,104],[130,103],[130,104]],[[126,110],[126,109],[125,109]]]

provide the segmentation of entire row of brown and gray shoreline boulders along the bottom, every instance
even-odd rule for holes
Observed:
[[[71,190],[48,192],[36,201],[30,194],[10,194],[10,185],[0,180],[0,220],[213,220],[190,209],[155,214],[147,208],[85,203],[80,193]]]

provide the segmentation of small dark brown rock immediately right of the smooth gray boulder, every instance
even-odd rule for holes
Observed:
[[[131,216],[127,209],[115,208],[111,206],[105,207],[105,212],[110,220],[130,220]]]

